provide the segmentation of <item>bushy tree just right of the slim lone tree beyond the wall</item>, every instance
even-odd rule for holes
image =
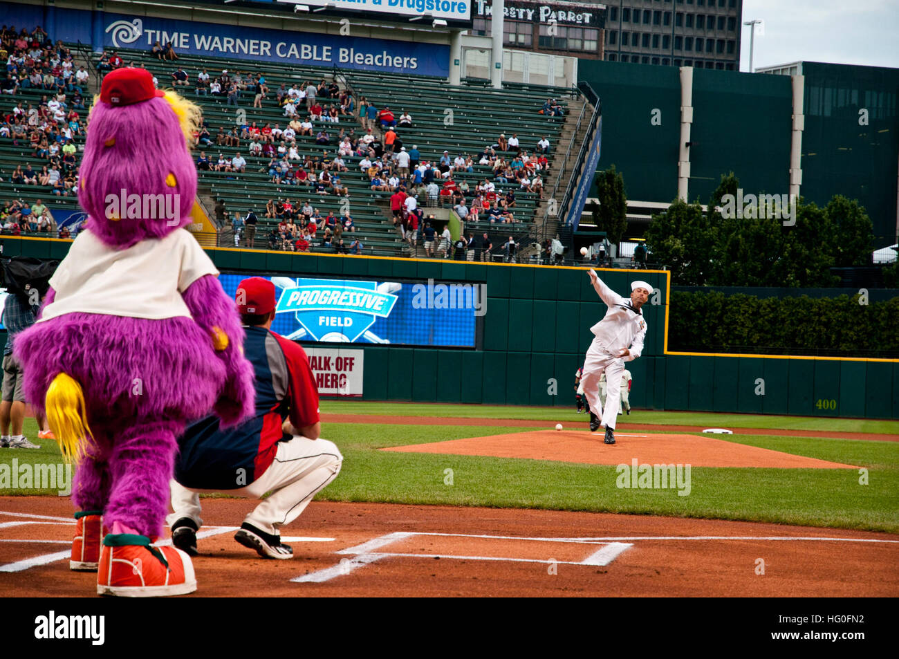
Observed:
[[[672,283],[681,286],[705,286],[712,272],[715,232],[699,201],[684,200],[656,213],[646,229],[646,247],[650,261],[663,263],[672,271]]]

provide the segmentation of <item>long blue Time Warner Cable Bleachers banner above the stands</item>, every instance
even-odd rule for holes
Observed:
[[[96,16],[102,22],[94,31],[92,19]],[[6,25],[33,26],[43,22],[42,8],[28,4],[0,3],[0,18]],[[149,50],[156,41],[171,41],[177,52],[190,55],[449,76],[449,46],[433,43],[92,13],[63,7],[55,9],[44,27],[54,40],[81,41],[95,49]]]

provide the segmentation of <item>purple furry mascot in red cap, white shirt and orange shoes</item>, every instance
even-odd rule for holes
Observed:
[[[183,228],[198,118],[145,69],[104,78],[79,181],[87,228],[50,280],[39,321],[15,341],[26,398],[46,408],[77,463],[70,565],[99,568],[102,594],[196,589],[190,558],[151,544],[163,533],[176,439],[210,411],[234,425],[254,409],[234,301]]]

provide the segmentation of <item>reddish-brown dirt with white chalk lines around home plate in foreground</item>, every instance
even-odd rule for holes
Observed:
[[[294,558],[274,561],[232,539],[251,506],[203,499],[206,526],[194,559],[199,590],[191,596],[899,592],[899,536],[893,534],[643,515],[313,502],[281,530],[291,539]],[[64,498],[0,498],[5,595],[95,596],[95,574],[67,567],[71,515]]]

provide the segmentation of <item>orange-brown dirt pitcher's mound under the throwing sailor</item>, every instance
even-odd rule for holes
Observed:
[[[708,435],[616,433],[618,443],[602,443],[604,432],[533,431],[512,432],[430,444],[396,446],[404,453],[449,453],[494,458],[529,458],[580,462],[588,465],[619,465],[636,459],[649,464],[689,464],[692,467],[769,467],[806,469],[857,469],[815,458],[760,449]]]

